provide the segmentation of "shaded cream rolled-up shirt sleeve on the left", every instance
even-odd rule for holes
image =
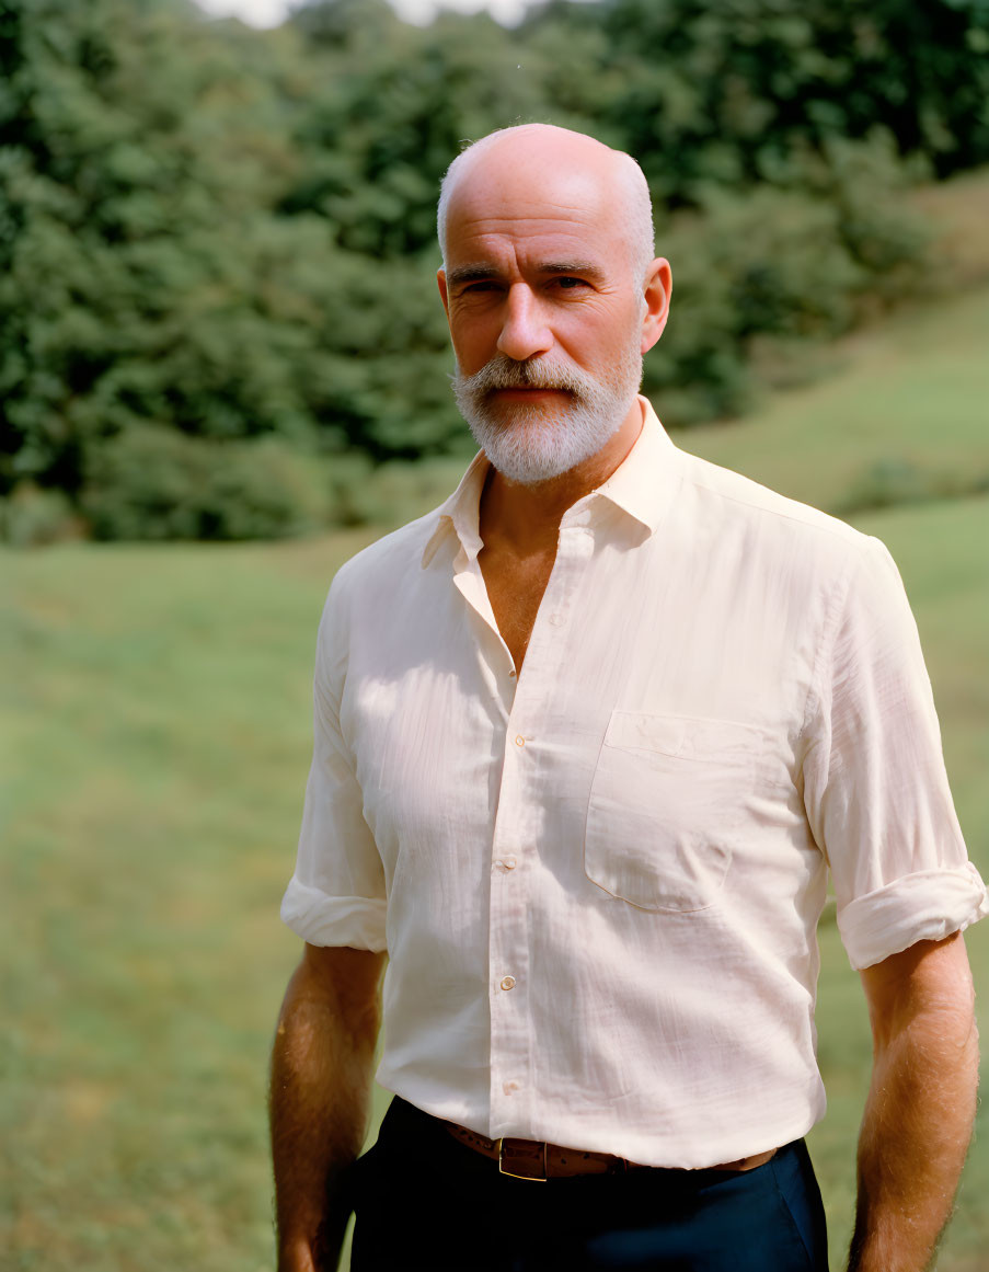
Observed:
[[[329,590],[317,640],[313,763],[305,790],[295,873],[281,917],[310,945],[384,950],[385,881],[364,800],[339,726],[347,669],[341,575]]]

